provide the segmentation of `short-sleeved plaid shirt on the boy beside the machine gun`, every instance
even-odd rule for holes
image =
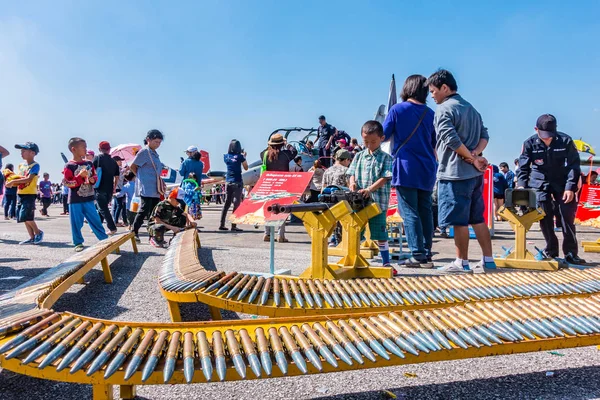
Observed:
[[[385,184],[372,192],[373,200],[385,213],[389,207],[392,190],[392,156],[381,150],[381,147],[369,153],[365,149],[358,153],[348,168],[346,175],[354,176],[359,189],[366,189],[380,178],[387,178]]]

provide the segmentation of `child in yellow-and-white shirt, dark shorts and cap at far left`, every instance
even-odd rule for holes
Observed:
[[[37,198],[37,180],[40,174],[40,165],[34,158],[40,149],[37,144],[27,142],[16,144],[15,149],[21,150],[21,157],[25,161],[19,164],[18,175],[22,178],[14,179],[7,187],[17,186],[19,204],[17,205],[17,222],[23,222],[27,228],[29,239],[19,244],[38,244],[44,239],[44,232],[35,223],[35,200]]]

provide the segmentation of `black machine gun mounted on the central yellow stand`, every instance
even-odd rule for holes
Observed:
[[[279,203],[272,204],[267,207],[267,211],[273,214],[280,213],[292,213],[292,212],[314,212],[324,211],[330,208],[332,205],[337,204],[341,201],[347,201],[350,207],[354,211],[360,211],[373,203],[371,197],[365,198],[359,192],[352,192],[350,189],[342,186],[327,186],[323,193],[319,195],[318,203],[304,203],[304,204],[289,204],[281,205]]]

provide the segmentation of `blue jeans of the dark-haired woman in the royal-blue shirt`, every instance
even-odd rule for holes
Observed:
[[[396,193],[408,248],[413,257],[425,261],[433,244],[432,191],[398,186]]]

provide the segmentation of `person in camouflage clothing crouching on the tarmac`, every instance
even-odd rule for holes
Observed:
[[[159,202],[148,221],[148,234],[150,235],[150,244],[154,247],[167,247],[165,242],[165,233],[173,231],[173,235],[183,230],[186,227],[196,227],[194,218],[183,211],[177,201],[179,188],[174,188],[169,193],[169,196]]]

